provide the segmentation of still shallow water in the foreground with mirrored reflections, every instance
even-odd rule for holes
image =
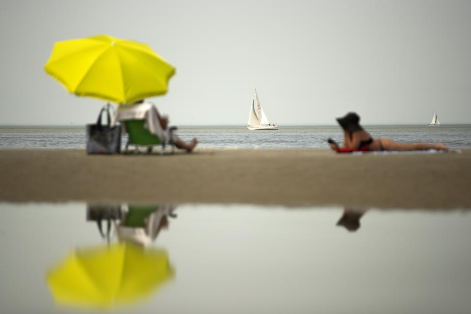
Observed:
[[[0,218],[1,313],[471,312],[469,210],[2,203]]]

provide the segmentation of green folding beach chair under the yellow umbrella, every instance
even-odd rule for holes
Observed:
[[[175,144],[172,141],[172,136],[169,136],[167,142],[160,140],[157,135],[152,134],[149,130],[144,128],[144,120],[127,120],[124,121],[124,123],[129,135],[128,143],[126,144],[126,152],[128,151],[129,145],[134,145],[137,152],[139,151],[139,146],[147,146],[150,152],[153,146],[159,144],[162,145],[162,155],[166,144],[172,146],[172,153],[175,152]],[[177,130],[177,127],[170,127],[169,130],[170,134],[172,134],[174,130]]]

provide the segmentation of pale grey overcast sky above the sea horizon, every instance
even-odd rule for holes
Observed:
[[[85,124],[104,101],[44,71],[56,41],[109,34],[176,68],[149,100],[174,125],[471,121],[471,1],[0,0],[0,124]]]

